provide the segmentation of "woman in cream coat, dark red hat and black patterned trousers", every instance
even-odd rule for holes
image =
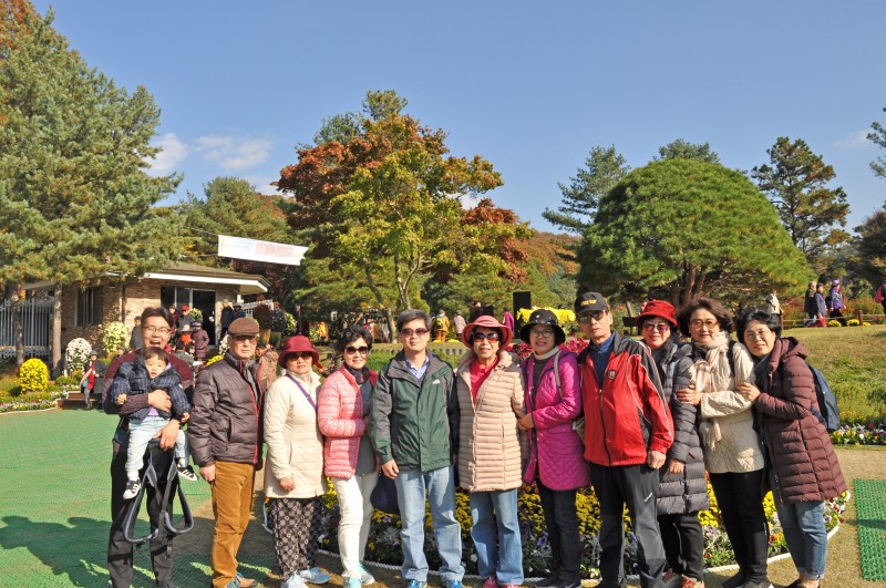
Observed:
[[[329,581],[316,567],[320,534],[323,437],[317,422],[320,355],[307,337],[290,337],[280,351],[286,374],[265,396],[265,495],[274,525],[274,547],[285,588]]]

